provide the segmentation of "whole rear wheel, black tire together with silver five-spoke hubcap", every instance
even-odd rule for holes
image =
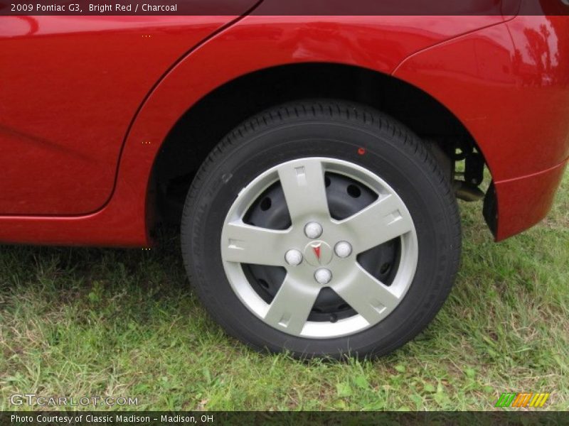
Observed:
[[[230,133],[188,193],[188,275],[211,315],[257,349],[381,355],[452,286],[457,205],[407,129],[343,102],[287,104]]]

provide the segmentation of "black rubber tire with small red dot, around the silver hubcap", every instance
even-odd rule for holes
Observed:
[[[307,339],[270,327],[235,295],[222,265],[221,230],[238,192],[264,170],[308,156],[373,171],[398,193],[415,222],[419,255],[408,292],[388,317],[349,337]],[[413,339],[440,310],[457,273],[461,230],[450,182],[417,136],[368,107],[316,100],[252,117],[213,149],[188,192],[181,248],[203,305],[228,334],[252,348],[307,358],[381,356]]]

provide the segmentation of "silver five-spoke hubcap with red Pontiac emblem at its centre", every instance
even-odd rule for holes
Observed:
[[[332,218],[324,173],[360,182],[376,193],[376,201],[346,219]],[[277,181],[291,226],[275,230],[246,224],[248,208]],[[362,268],[358,255],[393,239],[400,239],[398,269],[386,285]],[[399,305],[415,276],[418,243],[403,200],[376,174],[344,160],[301,158],[265,171],[240,191],[225,218],[221,256],[235,294],[262,321],[295,336],[331,338],[371,327]],[[286,269],[272,301],[255,292],[242,264]],[[337,321],[308,320],[324,287],[334,290],[355,315]]]

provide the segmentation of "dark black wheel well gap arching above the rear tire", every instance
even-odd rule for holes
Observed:
[[[193,175],[214,146],[248,117],[299,99],[343,99],[389,114],[430,141],[437,159],[454,176],[457,152],[479,153],[460,121],[429,94],[372,70],[329,63],[283,65],[224,84],[193,105],[171,129],[154,163],[157,212],[179,223]],[[466,154],[465,154],[466,153]],[[452,160],[451,160],[452,159]]]

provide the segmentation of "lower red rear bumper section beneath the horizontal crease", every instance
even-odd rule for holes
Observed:
[[[496,208],[485,216],[487,222],[491,222],[492,217],[496,219],[496,241],[518,234],[546,217],[568,162],[566,158],[553,168],[494,182]]]

